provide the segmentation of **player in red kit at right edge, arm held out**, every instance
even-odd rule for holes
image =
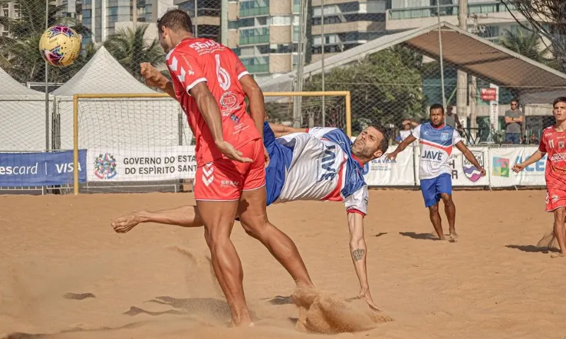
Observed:
[[[560,246],[560,254],[566,255],[566,97],[558,97],[553,103],[554,126],[543,131],[538,150],[529,159],[514,165],[517,173],[548,155],[545,169],[546,211],[554,213],[554,235]]]

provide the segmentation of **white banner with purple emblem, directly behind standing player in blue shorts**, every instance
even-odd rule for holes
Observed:
[[[490,177],[488,175],[487,147],[469,147],[470,151],[475,155],[480,165],[485,168],[485,177],[472,165],[466,157],[454,147],[450,156],[450,167],[452,168],[452,186],[489,186]],[[419,182],[419,164],[420,164],[420,148],[415,148],[415,176],[417,178],[417,186]]]

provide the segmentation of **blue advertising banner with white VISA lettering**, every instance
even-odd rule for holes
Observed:
[[[0,153],[0,186],[52,186],[73,182],[73,151]],[[79,150],[79,182],[86,182],[86,150]]]

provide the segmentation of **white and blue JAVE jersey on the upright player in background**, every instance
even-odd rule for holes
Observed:
[[[462,141],[458,131],[446,125],[435,129],[431,124],[422,124],[412,130],[412,135],[420,141],[419,179],[451,174],[452,147]]]

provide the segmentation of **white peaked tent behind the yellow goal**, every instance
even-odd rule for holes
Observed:
[[[100,47],[73,78],[53,92],[60,117],[60,148],[73,148],[75,94],[155,93]],[[179,144],[178,102],[170,97],[98,98],[79,101],[79,148]],[[185,121],[185,135],[188,129]]]

